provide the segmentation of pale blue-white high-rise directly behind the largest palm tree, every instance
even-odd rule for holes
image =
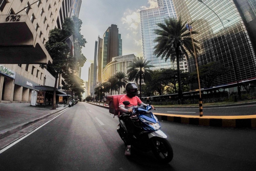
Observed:
[[[152,9],[146,9],[140,11],[141,18],[141,32],[142,32],[142,47],[143,47],[143,57],[147,61],[151,61],[150,65],[155,66],[153,70],[161,68],[175,68],[177,69],[177,63],[171,62],[161,57],[156,57],[154,55],[154,47],[157,45],[154,39],[158,36],[154,33],[155,29],[159,29],[156,25],[157,23],[164,23],[165,18],[175,17],[176,12],[172,0],[157,0],[158,7]],[[180,69],[187,71],[186,58],[180,61]]]

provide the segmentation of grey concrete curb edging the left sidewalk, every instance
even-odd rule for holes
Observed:
[[[63,108],[63,109],[59,109],[59,110],[54,111],[54,112],[52,112],[52,113],[46,114],[45,116],[42,116],[42,117],[40,117],[40,118],[31,120],[31,121],[29,121],[29,122],[27,122],[27,123],[22,123],[22,124],[13,126],[13,127],[11,127],[11,128],[4,129],[4,130],[0,131],[0,139],[5,138],[5,137],[7,137],[7,136],[9,136],[9,135],[11,135],[11,134],[13,134],[13,133],[16,133],[16,132],[18,132],[19,130],[24,129],[24,128],[26,128],[26,127],[32,125],[32,124],[35,123],[35,122],[38,122],[38,121],[40,121],[40,120],[42,120],[42,119],[45,119],[45,118],[47,118],[47,117],[49,117],[49,116],[51,116],[51,115],[53,115],[53,114],[56,114],[56,113],[58,113],[58,112],[60,112],[60,111],[62,111],[62,110],[64,110],[64,109],[66,109],[66,108],[67,108],[67,107],[65,107],[65,108]]]

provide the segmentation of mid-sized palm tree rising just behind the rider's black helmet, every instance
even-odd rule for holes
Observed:
[[[154,67],[153,65],[148,65],[151,61],[146,61],[143,57],[135,57],[133,62],[130,63],[129,68],[127,70],[128,80],[132,81],[135,79],[137,82],[140,79],[140,98],[141,98],[141,80],[142,78],[145,81],[151,81],[151,74],[153,73],[150,67]]]

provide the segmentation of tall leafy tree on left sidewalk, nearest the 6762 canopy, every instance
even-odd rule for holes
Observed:
[[[54,94],[52,109],[56,109],[56,87],[58,76],[67,75],[69,72],[77,71],[82,67],[86,58],[81,53],[81,48],[85,46],[86,40],[80,34],[81,20],[76,17],[67,17],[63,24],[62,29],[54,28],[49,33],[49,40],[46,42],[45,47],[49,52],[53,62],[48,65],[41,65],[46,68],[54,77]],[[70,54],[70,49],[65,40],[73,34],[74,40],[74,56]]]

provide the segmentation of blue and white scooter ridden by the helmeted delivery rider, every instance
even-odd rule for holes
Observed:
[[[124,101],[124,105],[130,105],[129,101]],[[119,117],[117,132],[126,144],[127,129],[124,120],[130,119],[132,115],[137,115],[139,121],[136,123],[137,129],[133,135],[132,146],[144,152],[152,150],[154,156],[162,163],[169,163],[173,159],[173,149],[167,136],[160,130],[161,125],[157,117],[150,112],[151,105],[133,106],[132,114],[123,114]]]

